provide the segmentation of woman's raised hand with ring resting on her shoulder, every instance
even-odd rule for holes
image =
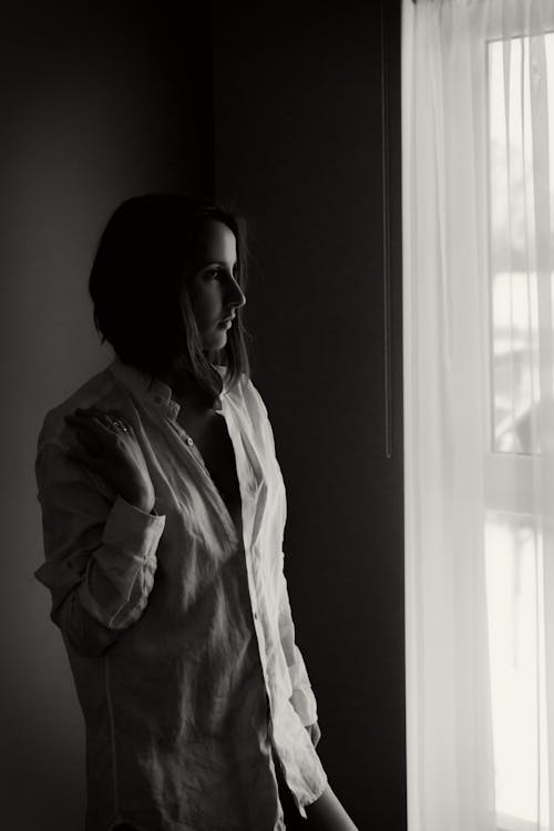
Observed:
[[[95,407],[78,408],[65,421],[83,448],[68,455],[102,476],[125,502],[150,513],[154,485],[132,425],[115,410]]]

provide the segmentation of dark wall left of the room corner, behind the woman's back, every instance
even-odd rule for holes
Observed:
[[[44,412],[111,359],[86,296],[110,213],[142,192],[212,188],[211,37],[199,6],[193,14],[182,3],[54,0],[2,10],[6,829],[83,827],[82,717],[49,595],[32,576],[42,560],[35,442]]]

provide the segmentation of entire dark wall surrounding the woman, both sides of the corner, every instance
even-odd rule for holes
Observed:
[[[387,64],[366,6],[215,0],[215,154],[209,3],[2,12],[1,828],[82,827],[82,718],[32,577],[32,465],[43,413],[111,358],[86,296],[94,247],[132,194],[211,192],[214,161],[219,196],[252,218],[254,380],[320,755],[360,829],[404,828],[399,22],[389,10]]]

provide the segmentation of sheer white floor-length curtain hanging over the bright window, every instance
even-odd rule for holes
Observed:
[[[551,32],[403,0],[410,831],[554,831]]]

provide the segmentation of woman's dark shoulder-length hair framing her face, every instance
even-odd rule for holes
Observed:
[[[236,238],[236,280],[247,283],[246,226],[222,205],[189,194],[147,194],[126,199],[102,234],[89,280],[94,325],[124,363],[153,376],[178,366],[212,398],[222,391],[215,369],[226,367],[233,387],[250,376],[242,308],[220,350],[202,349],[185,279],[201,225],[224,223]]]

